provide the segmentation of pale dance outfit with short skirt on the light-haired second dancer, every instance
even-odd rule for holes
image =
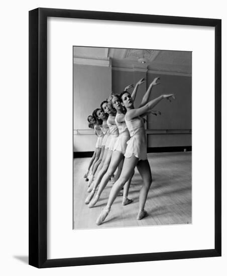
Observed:
[[[127,148],[127,142],[130,139],[129,130],[127,128],[127,125],[125,122],[118,122],[117,117],[120,116],[120,114],[117,113],[115,122],[118,126],[119,130],[119,136],[116,140],[115,146],[113,147],[113,151],[118,151],[123,154],[125,154],[126,148]]]

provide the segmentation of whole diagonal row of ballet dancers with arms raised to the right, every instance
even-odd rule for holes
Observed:
[[[118,195],[122,195],[123,187],[122,204],[128,205],[133,202],[132,199],[128,198],[128,193],[135,167],[137,167],[143,179],[143,185],[139,193],[137,220],[141,220],[147,215],[144,207],[152,184],[152,174],[147,159],[144,117],[150,113],[154,115],[161,114],[159,111],[152,109],[161,100],[171,101],[175,97],[173,94],[167,94],[149,101],[152,88],[160,84],[158,82],[160,78],[156,77],[149,85],[140,106],[135,108],[134,101],[138,87],[145,80],[143,78],[138,81],[135,87],[134,85],[125,87],[120,95],[111,94],[108,100],[101,102],[100,108],[96,108],[92,115],[88,116],[89,127],[94,128],[97,135],[95,151],[84,176],[88,180],[87,191],[89,194],[85,199],[85,204],[88,204],[89,208],[95,206],[108,181],[115,174],[113,178],[115,183],[111,188],[106,206],[96,220],[97,225],[104,222],[113,202]],[[128,90],[132,87],[134,87],[134,90],[130,94]],[[95,176],[98,168],[100,170]]]

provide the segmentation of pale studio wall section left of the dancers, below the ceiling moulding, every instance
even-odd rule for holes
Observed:
[[[76,50],[75,50],[76,52]],[[73,151],[94,150],[96,135],[88,128],[88,115],[111,93],[111,67],[73,65]],[[79,129],[78,131],[76,131]],[[83,133],[83,134],[82,134]],[[86,134],[88,133],[88,134]]]

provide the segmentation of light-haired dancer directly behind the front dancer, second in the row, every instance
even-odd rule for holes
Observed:
[[[144,97],[141,101],[140,106],[143,106],[148,102],[148,99],[149,99],[152,88],[155,85],[159,84],[157,82],[158,79],[159,78],[155,78],[153,80],[153,82],[149,85],[149,88],[148,88],[147,92],[145,93],[145,95],[144,95]],[[136,84],[136,86],[138,84],[139,85],[142,84],[144,81],[145,81],[145,79],[140,80]],[[132,98],[133,98],[133,100],[135,100],[135,95],[133,97],[133,94],[132,94]],[[115,147],[113,148],[113,154],[112,154],[112,157],[111,157],[111,161],[110,161],[108,170],[107,170],[107,172],[105,173],[105,175],[103,176],[103,178],[100,182],[100,185],[98,187],[98,191],[97,191],[95,197],[93,197],[93,199],[89,203],[89,205],[88,205],[89,208],[93,207],[97,203],[103,189],[105,188],[105,186],[107,185],[107,183],[110,179],[110,176],[113,174],[113,172],[115,172],[117,167],[120,166],[119,169],[120,170],[122,169],[122,166],[120,164],[122,163],[122,161],[124,159],[124,154],[125,154],[125,151],[126,151],[127,142],[130,139],[130,133],[129,133],[129,130],[128,130],[128,128],[126,126],[126,123],[125,123],[126,110],[122,105],[122,101],[121,101],[120,96],[119,95],[111,95],[109,97],[109,101],[113,105],[113,108],[115,108],[117,110],[117,115],[116,115],[115,120],[116,120],[116,124],[119,128],[120,135],[117,139]],[[151,111],[151,113],[154,114],[154,115],[161,114],[159,111],[153,111],[153,110]],[[134,174],[134,172],[133,172],[133,174]],[[131,184],[133,174],[124,186],[124,194],[123,194],[123,201],[122,201],[123,205],[128,205],[133,201],[132,199],[128,198],[129,188],[130,188],[130,184]],[[95,187],[94,187],[94,189],[95,189]]]

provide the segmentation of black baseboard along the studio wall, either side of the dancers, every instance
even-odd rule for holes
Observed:
[[[147,148],[147,153],[191,152],[191,146]],[[73,158],[92,157],[94,152],[73,152]]]

